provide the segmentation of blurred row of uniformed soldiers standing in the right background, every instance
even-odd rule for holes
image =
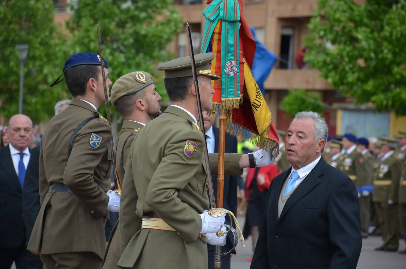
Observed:
[[[369,234],[371,210],[375,211],[374,224],[383,239],[382,245],[375,250],[397,251],[399,232],[406,234],[405,154],[406,131],[399,131],[396,139],[381,137],[371,147],[366,138],[357,139],[351,133],[334,139],[330,137],[323,153],[331,166],[354,181],[364,238]],[[400,253],[406,254],[406,250]]]

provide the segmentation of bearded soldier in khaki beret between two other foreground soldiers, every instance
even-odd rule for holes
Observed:
[[[155,89],[152,76],[143,71],[123,75],[111,89],[111,103],[118,108],[123,117],[123,127],[116,148],[116,175],[120,189],[132,141],[145,124],[161,114],[159,104],[161,97]],[[102,268],[118,269],[120,256],[120,226],[117,220],[110,234]]]

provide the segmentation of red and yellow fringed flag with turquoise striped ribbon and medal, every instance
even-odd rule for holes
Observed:
[[[242,0],[207,0],[201,53],[213,52],[213,110],[227,114],[227,131],[261,148],[279,150],[272,116],[251,72],[255,40],[243,14]],[[248,130],[249,132],[245,131]]]

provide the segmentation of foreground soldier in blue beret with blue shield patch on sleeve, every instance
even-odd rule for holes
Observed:
[[[111,128],[97,112],[104,103],[100,60],[79,53],[65,62],[73,100],[51,119],[41,140],[41,210],[27,248],[40,254],[45,269],[100,268],[108,211],[119,209],[120,196],[108,192]],[[105,73],[110,86],[107,68]]]

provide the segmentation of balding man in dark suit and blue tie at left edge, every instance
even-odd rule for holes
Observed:
[[[30,160],[32,121],[14,115],[9,121],[10,144],[0,148],[0,269],[35,269],[35,255],[26,249],[26,229],[22,199],[24,179]]]

